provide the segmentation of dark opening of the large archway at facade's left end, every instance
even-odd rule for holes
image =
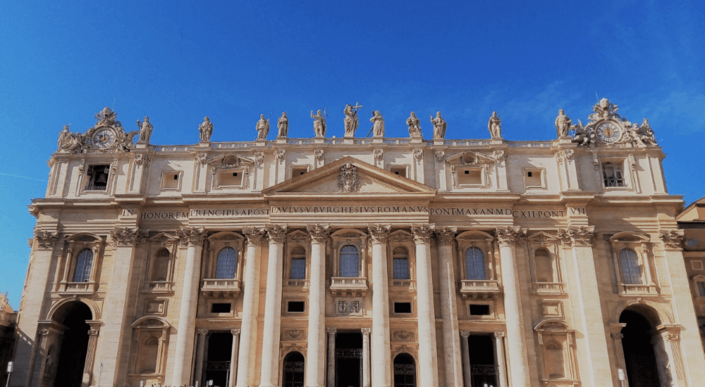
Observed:
[[[80,301],[73,301],[62,305],[54,313],[54,321],[66,326],[63,339],[56,343],[56,346],[47,350],[46,361],[49,364],[56,364],[56,369],[47,365],[47,372],[56,372],[54,377],[54,387],[80,387],[83,379],[83,369],[85,368],[86,354],[88,351],[88,330],[90,326],[86,324],[91,320],[93,314],[90,308]],[[51,351],[56,351],[56,357]]]

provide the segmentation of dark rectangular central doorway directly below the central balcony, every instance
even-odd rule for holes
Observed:
[[[336,334],[336,387],[362,386],[362,334]]]

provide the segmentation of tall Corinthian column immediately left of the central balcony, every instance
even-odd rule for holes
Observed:
[[[306,229],[311,236],[311,286],[305,386],[322,387],[326,383],[326,239],[331,227],[309,224]]]

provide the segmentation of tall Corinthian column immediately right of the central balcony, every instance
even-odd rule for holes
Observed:
[[[391,386],[387,236],[389,224],[369,224],[372,238],[372,386]],[[419,335],[420,336],[420,335]]]

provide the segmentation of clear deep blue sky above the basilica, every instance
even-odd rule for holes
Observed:
[[[705,196],[699,1],[27,3],[0,3],[0,291],[15,308],[26,205],[44,196],[61,127],[84,132],[104,106],[128,129],[149,115],[152,144],[195,143],[204,115],[213,141],[252,140],[259,114],[284,110],[290,137],[312,137],[324,107],[341,136],[357,101],[389,137],[407,136],[411,110],[441,110],[447,138],[485,139],[497,110],[506,139],[547,140],[559,108],[585,122],[597,95],[649,118],[670,194]]]

